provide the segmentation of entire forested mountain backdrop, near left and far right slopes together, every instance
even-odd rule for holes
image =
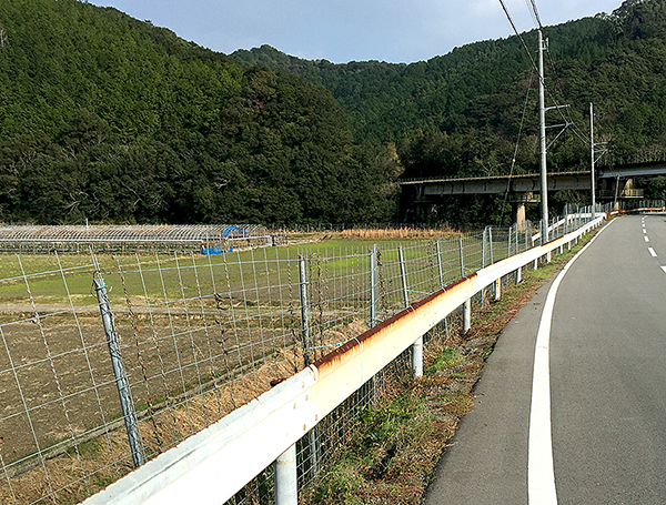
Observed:
[[[573,124],[551,170],[588,166],[591,101],[604,162],[666,159],[666,0],[545,33],[547,105],[571,104],[548,121]],[[518,138],[514,171],[536,170],[517,37],[412,64],[232,57],[79,0],[0,2],[0,222],[386,222],[401,172],[508,173]],[[500,212],[474,198],[435,218]]]

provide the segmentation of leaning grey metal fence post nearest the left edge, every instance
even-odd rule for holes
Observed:
[[[111,364],[113,366],[113,375],[115,376],[115,386],[118,387],[118,396],[120,397],[120,406],[125,422],[125,430],[130,441],[132,461],[134,463],[134,468],[138,468],[145,463],[145,452],[141,442],[141,434],[139,433],[139,422],[137,420],[137,411],[134,411],[134,403],[132,402],[130,382],[120,354],[120,343],[118,341],[115,326],[113,325],[113,315],[111,314],[111,303],[109,302],[107,284],[101,275],[99,275],[98,279],[94,279],[94,290],[97,291],[98,301],[100,303],[100,313],[102,315],[102,323],[104,324],[109,353],[111,354]]]

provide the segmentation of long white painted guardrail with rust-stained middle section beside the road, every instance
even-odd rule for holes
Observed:
[[[382,322],[307,368],[91,496],[85,505],[220,505],[287,452],[337,405],[476,293],[605,218],[508,257]],[[293,473],[295,479],[295,472]]]

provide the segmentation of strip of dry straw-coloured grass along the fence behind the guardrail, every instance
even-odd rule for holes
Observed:
[[[364,322],[354,321],[339,331],[326,332],[321,343],[333,347],[365,330]],[[300,346],[281,349],[275,352],[272,363],[246,371],[231,383],[218,384],[213,381],[204,385],[208,391],[202,395],[189,392],[188,397],[184,394],[172,397],[171,405],[153,405],[153,413],[140,412],[139,427],[147,455],[154,457],[210,426],[265,393],[271,387],[271,381],[293,375],[302,364]],[[80,440],[78,447],[72,446],[65,454],[46,459],[43,466],[33,458],[20,472],[14,468],[7,476],[3,472],[7,464],[2,459],[0,438],[0,505],[27,505],[40,499],[44,503],[79,503],[133,469],[122,422],[115,423],[107,434],[88,437],[84,442]],[[20,474],[14,475],[17,473]]]

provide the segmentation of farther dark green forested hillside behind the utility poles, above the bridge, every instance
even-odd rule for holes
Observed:
[[[664,158],[666,0],[628,0],[612,14],[544,32],[549,39],[546,105],[572,105],[562,114],[549,112],[548,121],[576,125],[551,148],[551,166],[588,166],[589,102],[598,140],[609,142],[605,162]],[[535,54],[536,32],[523,38]],[[325,85],[347,110],[357,139],[397,144],[405,176],[508,173],[523,110],[515,170],[536,169],[537,81],[517,37],[412,64],[304,61],[266,46],[232,57]]]

